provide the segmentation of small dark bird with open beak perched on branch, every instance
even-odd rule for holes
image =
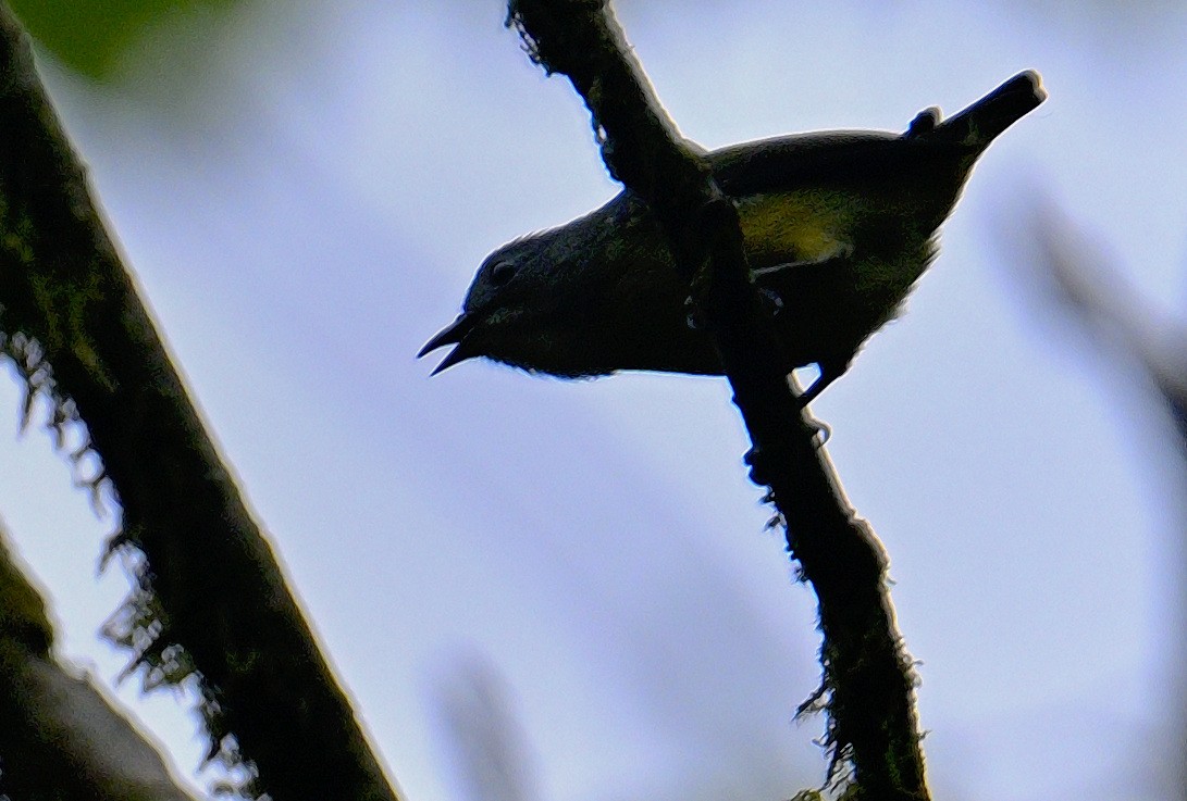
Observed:
[[[903,134],[817,132],[706,154],[737,205],[751,277],[772,302],[787,372],[815,365],[815,398],[897,316],[935,258],[937,230],[978,156],[1046,100],[1022,72],[956,116],[921,111]],[[691,325],[687,282],[655,216],[629,190],[483,261],[462,313],[421,348],[563,378],[620,370],[721,374]]]

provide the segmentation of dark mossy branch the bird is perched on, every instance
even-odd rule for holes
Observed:
[[[895,628],[887,557],[858,519],[793,395],[750,283],[737,211],[699,150],[678,137],[605,0],[510,0],[533,60],[585,100],[607,168],[650,206],[699,318],[715,334],[787,544],[819,600],[832,767],[851,761],[855,795],[926,799],[915,675]],[[812,704],[805,705],[811,706]],[[804,710],[801,710],[804,711]]]

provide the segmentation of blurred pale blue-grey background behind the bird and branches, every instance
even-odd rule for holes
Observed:
[[[586,111],[494,1],[14,4],[115,236],[414,801],[786,799],[820,783],[814,600],[718,379],[413,354],[495,246],[602,204]],[[891,556],[935,797],[1169,797],[1185,475],[1144,373],[1052,302],[1058,207],[1174,332],[1187,7],[618,0],[706,147],[902,130],[1037,69],[908,313],[814,404]],[[1035,223],[1039,223],[1036,225]],[[1169,341],[1169,340],[1168,340]],[[113,684],[115,520],[0,382],[0,512]],[[7,410],[5,412],[4,410]],[[5,431],[7,429],[7,431]],[[120,697],[205,787],[192,698]]]

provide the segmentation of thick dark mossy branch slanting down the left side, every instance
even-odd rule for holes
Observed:
[[[148,683],[197,673],[211,755],[280,799],[393,800],[345,693],[190,402],[0,5],[0,348],[80,419],[146,557],[120,634]],[[28,408],[28,406],[27,406]],[[74,454],[77,456],[78,454]]]

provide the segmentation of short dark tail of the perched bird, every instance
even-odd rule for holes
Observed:
[[[1042,78],[1034,70],[1027,70],[942,122],[939,109],[922,111],[904,136],[948,141],[980,153],[1045,100],[1047,90],[1042,88]]]

